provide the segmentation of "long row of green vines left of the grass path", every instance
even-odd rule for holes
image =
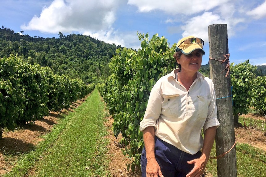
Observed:
[[[30,65],[17,55],[0,58],[0,64],[1,129],[14,130],[48,115],[49,110],[67,109],[95,87],[53,74],[49,67]]]

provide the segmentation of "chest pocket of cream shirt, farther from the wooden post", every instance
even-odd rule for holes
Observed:
[[[167,117],[177,117],[178,107],[180,105],[180,95],[163,94],[164,101],[162,103],[162,114]]]

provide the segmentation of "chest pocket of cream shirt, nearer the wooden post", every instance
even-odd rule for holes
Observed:
[[[197,96],[198,104],[197,104],[197,118],[198,119],[206,119],[208,116],[208,109],[210,104],[210,98],[204,97],[201,95]]]

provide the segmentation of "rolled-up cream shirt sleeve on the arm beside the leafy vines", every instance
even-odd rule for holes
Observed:
[[[156,128],[156,120],[161,114],[162,102],[163,97],[160,94],[160,89],[157,89],[155,84],[151,90],[143,120],[140,122],[140,131],[150,126]]]

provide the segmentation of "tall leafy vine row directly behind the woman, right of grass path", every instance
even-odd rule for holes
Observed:
[[[148,34],[139,34],[141,49],[117,49],[109,64],[111,75],[99,92],[107,108],[114,116],[114,135],[122,134],[121,143],[128,145],[124,155],[132,160],[128,164],[134,171],[140,165],[143,147],[139,122],[143,119],[150,91],[156,81],[176,67],[173,52],[167,39],[158,34],[148,39]],[[127,147],[127,146],[126,146]]]

